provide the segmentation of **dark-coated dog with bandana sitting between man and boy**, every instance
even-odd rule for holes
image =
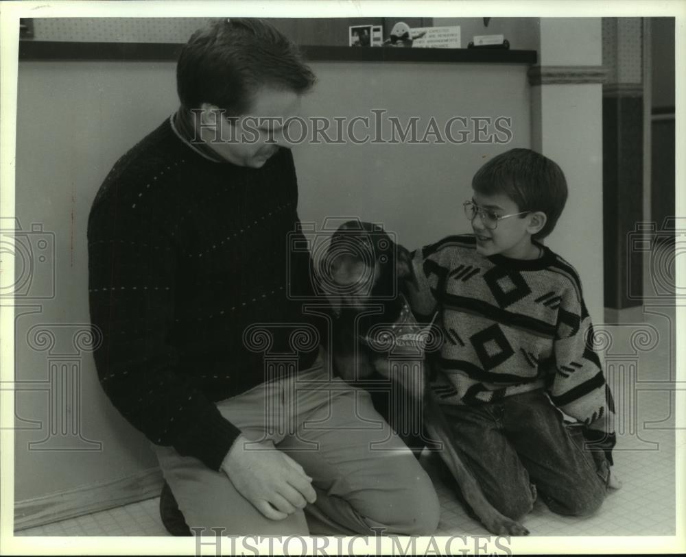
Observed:
[[[410,251],[394,243],[380,225],[347,221],[333,234],[320,262],[320,275],[329,285],[338,316],[331,339],[334,369],[347,382],[363,387],[364,380],[376,374],[397,382],[420,408],[422,423],[429,434],[423,441],[442,447],[440,456],[464,501],[488,531],[499,535],[528,534],[517,521],[493,508],[462,462],[456,440],[431,391],[427,367],[399,369],[389,362],[391,351],[407,347],[407,342],[399,343],[398,339],[409,340],[410,348],[420,349],[417,353],[421,359],[427,338],[431,337],[431,327],[420,327],[407,304],[407,289],[417,284]]]

